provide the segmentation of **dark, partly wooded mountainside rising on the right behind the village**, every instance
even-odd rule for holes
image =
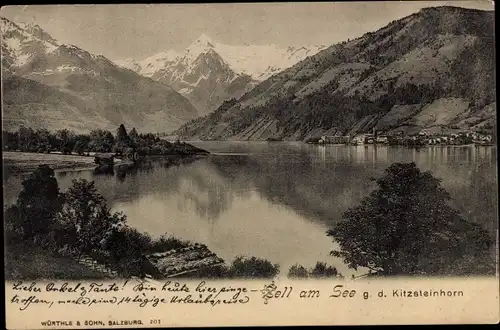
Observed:
[[[492,129],[494,63],[493,12],[426,8],[301,61],[177,133],[301,140],[373,128]]]

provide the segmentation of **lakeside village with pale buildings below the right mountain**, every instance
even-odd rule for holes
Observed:
[[[417,134],[405,135],[402,132],[397,134],[379,134],[376,130],[372,133],[328,136],[311,138],[306,141],[310,144],[345,144],[345,145],[400,145],[400,146],[433,146],[433,145],[494,145],[492,134],[484,132],[463,131],[448,134],[433,134],[423,129]]]

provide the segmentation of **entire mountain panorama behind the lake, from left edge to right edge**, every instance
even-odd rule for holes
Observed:
[[[479,24],[481,23],[481,24]],[[420,10],[325,45],[227,45],[111,61],[2,18],[4,129],[119,124],[198,140],[496,134],[493,12]]]

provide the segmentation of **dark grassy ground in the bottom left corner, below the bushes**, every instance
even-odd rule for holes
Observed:
[[[75,260],[30,244],[4,247],[5,280],[86,280],[106,276]]]

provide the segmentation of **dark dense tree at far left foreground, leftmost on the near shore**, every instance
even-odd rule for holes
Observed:
[[[9,211],[10,219],[7,221],[24,240],[45,240],[64,201],[54,170],[47,165],[39,166],[22,185],[23,189],[16,205]]]

